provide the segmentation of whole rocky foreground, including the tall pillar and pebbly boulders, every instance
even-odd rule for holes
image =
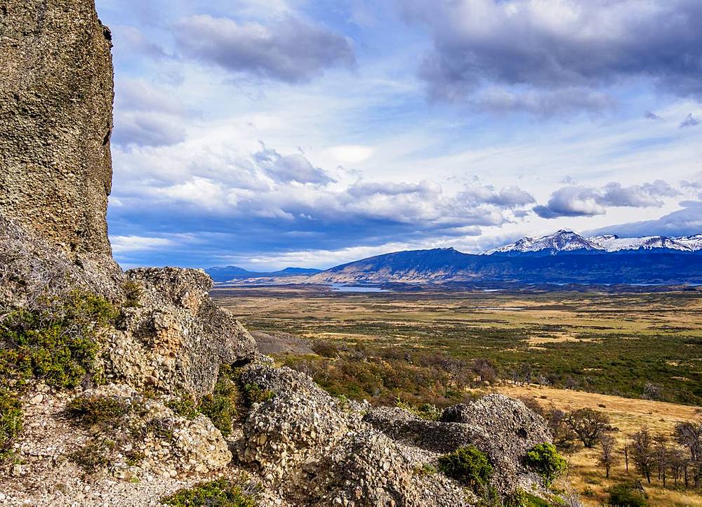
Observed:
[[[468,446],[492,501],[548,493],[526,457],[550,435],[521,402],[425,421],[338,400],[258,353],[204,272],[122,272],[110,30],[93,0],[0,4],[0,503],[154,506],[227,478],[263,506],[469,506],[483,490],[436,470]]]

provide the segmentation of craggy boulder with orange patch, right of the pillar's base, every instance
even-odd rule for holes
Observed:
[[[256,342],[208,296],[202,270],[126,273],[130,301],[105,347],[108,378],[165,393],[211,393],[220,364],[248,362]]]

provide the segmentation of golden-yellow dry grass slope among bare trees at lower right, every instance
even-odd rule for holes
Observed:
[[[623,444],[625,435],[647,427],[654,433],[670,434],[675,424],[691,421],[696,416],[696,407],[649,400],[631,400],[617,396],[582,393],[580,391],[545,388],[541,386],[500,386],[498,392],[513,397],[533,397],[544,407],[555,407],[564,411],[591,408],[607,412],[613,426],[619,429],[616,437],[619,445]],[[604,407],[603,407],[604,405]],[[607,488],[617,482],[630,482],[638,477],[630,463],[630,472],[626,473],[624,464],[611,470],[610,478],[604,476],[604,470],[597,466],[597,449],[578,450],[568,456],[569,473],[564,480],[557,483],[564,487],[567,483],[581,494],[587,506],[601,506],[607,500]],[[651,506],[702,506],[702,496],[696,492],[675,489],[663,489],[654,478],[654,484],[646,485]],[[586,493],[586,494],[583,494]]]

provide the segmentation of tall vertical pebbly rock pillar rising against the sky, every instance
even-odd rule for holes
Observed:
[[[0,213],[107,258],[112,36],[94,0],[0,0]]]

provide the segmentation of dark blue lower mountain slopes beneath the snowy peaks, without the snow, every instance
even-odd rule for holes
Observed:
[[[308,283],[702,284],[702,259],[684,252],[570,251],[567,255],[470,255],[402,251],[331,268]]]

